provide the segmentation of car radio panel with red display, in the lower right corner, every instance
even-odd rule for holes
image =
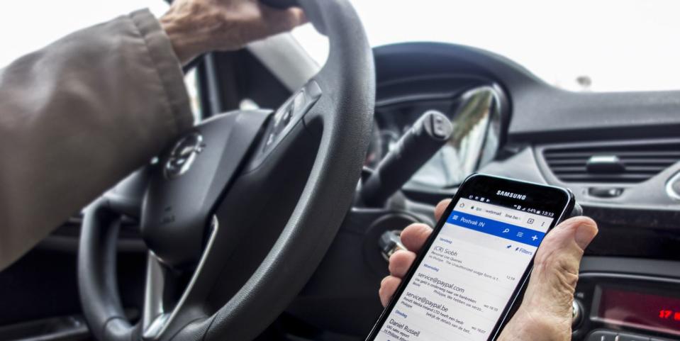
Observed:
[[[680,340],[679,276],[677,262],[584,259],[574,295],[572,340]]]

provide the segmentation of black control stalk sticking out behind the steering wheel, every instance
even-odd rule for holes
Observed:
[[[449,118],[427,111],[418,118],[364,182],[360,197],[371,207],[382,207],[425,162],[440,150],[453,131]]]

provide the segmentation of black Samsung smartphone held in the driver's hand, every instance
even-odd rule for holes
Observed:
[[[495,340],[568,189],[473,174],[446,208],[367,341]]]

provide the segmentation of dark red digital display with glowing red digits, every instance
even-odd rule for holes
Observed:
[[[603,288],[598,313],[604,323],[680,335],[679,298]]]

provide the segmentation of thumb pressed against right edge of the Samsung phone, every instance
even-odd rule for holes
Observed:
[[[571,325],[581,257],[597,232],[591,218],[576,217],[564,220],[546,235],[536,252],[523,309]]]

